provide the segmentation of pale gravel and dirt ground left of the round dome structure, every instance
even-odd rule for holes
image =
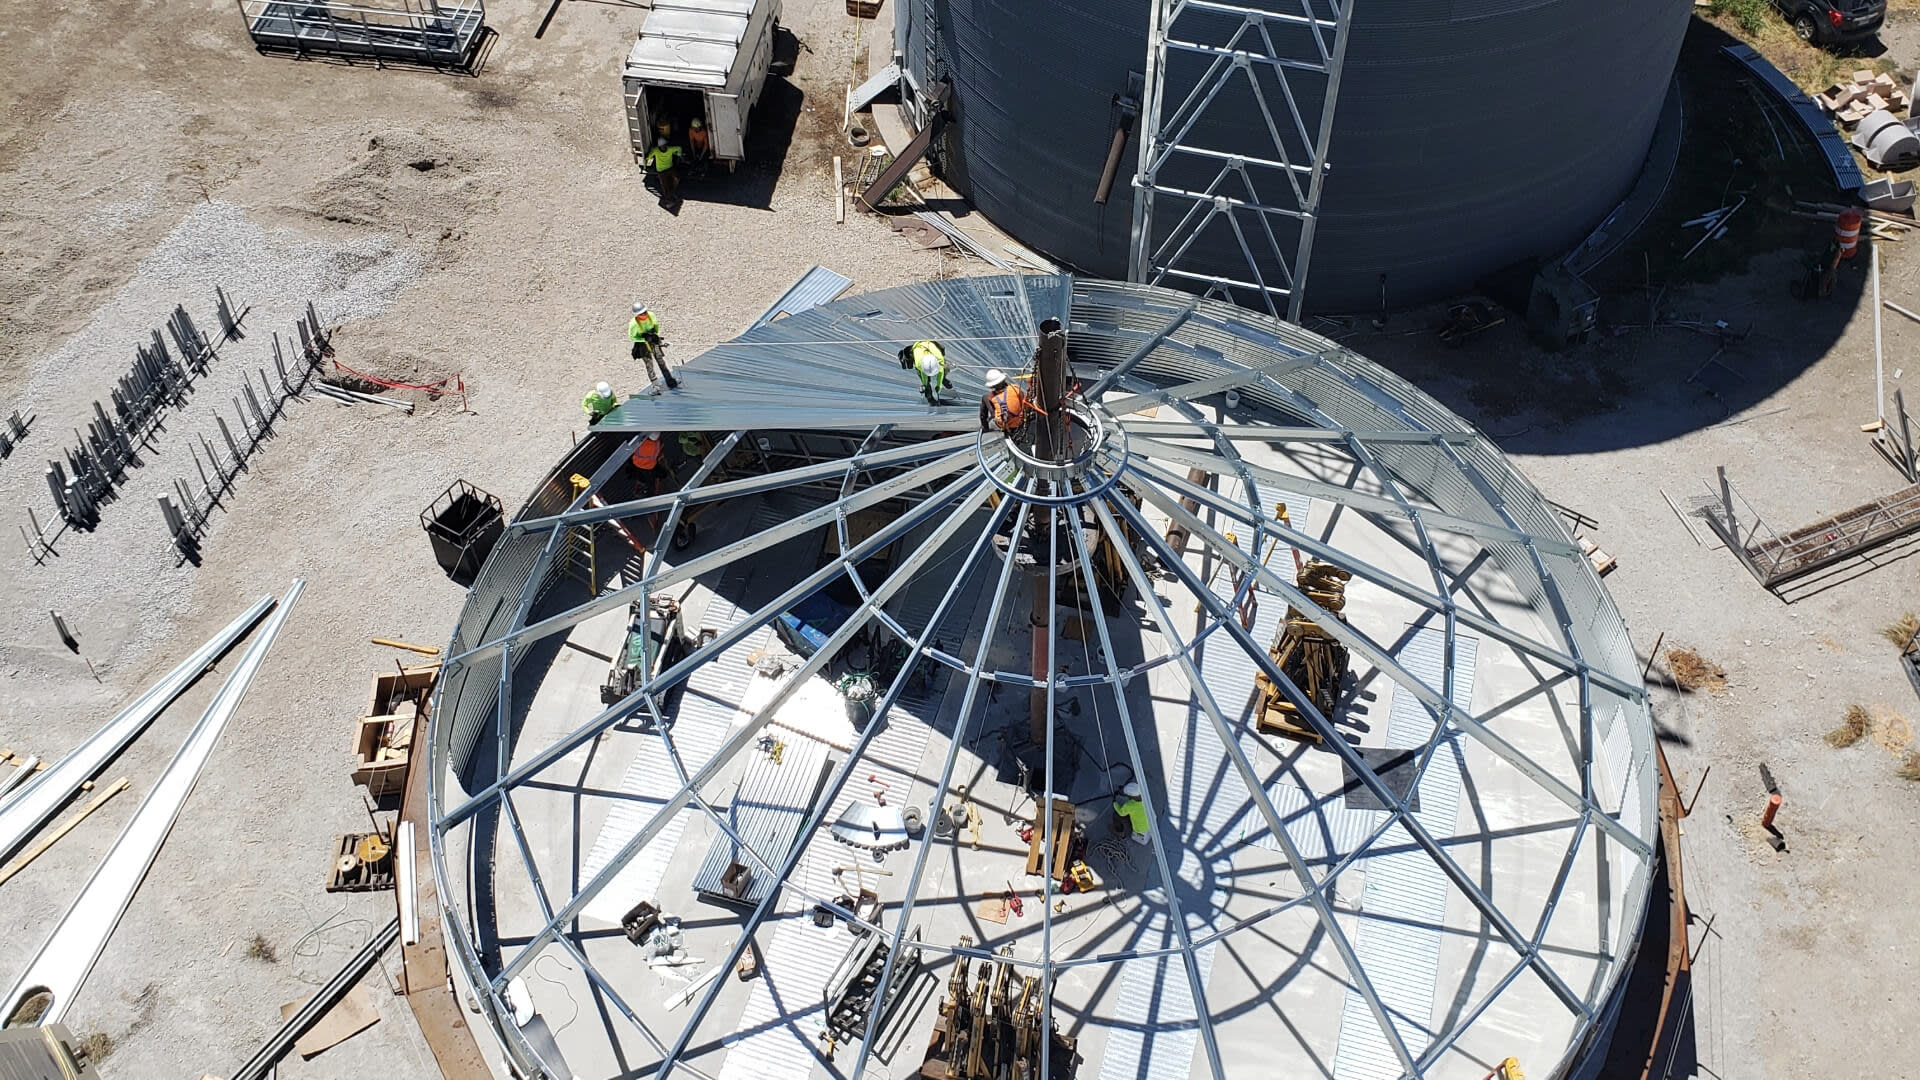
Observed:
[[[781,102],[783,160],[743,169],[741,202],[689,186],[678,217],[626,150],[618,60],[643,10],[570,4],[543,40],[532,8],[493,12],[480,77],[255,56],[232,8],[31,8],[0,29],[0,411],[36,413],[0,461],[0,746],[58,755],[263,592],[309,588],[67,1015],[113,1042],[109,1076],[225,1074],[390,917],[392,899],[321,892],[332,838],[365,824],[348,782],[367,678],[396,653],[369,636],[444,642],[463,592],[440,575],[419,513],[465,477],[516,505],[582,423],[597,379],[639,390],[622,325],[636,294],[672,356],[743,329],[808,265],[883,288],[954,273],[885,225],[833,225],[831,156],[854,25],[837,2],[789,0],[801,40]],[[113,40],[111,56],[96,48]],[[138,67],[129,56],[142,58]],[[415,163],[432,161],[432,169]],[[15,519],[48,521],[44,459],[125,371],[132,344],[184,304],[217,329],[213,284],[250,304],[106,505],[35,567]],[[190,477],[186,442],[232,413],[313,300],[338,359],[388,379],[463,375],[413,417],[294,402],[204,542],[167,550],[154,494]],[[217,436],[215,436],[217,438]],[[81,655],[54,636],[65,613]],[[88,673],[92,661],[100,680]],[[0,972],[17,970],[106,853],[217,680],[196,686],[117,761],[132,790],[4,886]],[[248,955],[265,938],[275,961]],[[390,957],[397,972],[397,957]],[[280,1076],[434,1076],[405,1005]]]

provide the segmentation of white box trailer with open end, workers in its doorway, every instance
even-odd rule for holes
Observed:
[[[622,77],[634,156],[645,161],[662,119],[685,148],[699,117],[714,160],[739,165],[778,27],[780,0],[655,0]]]

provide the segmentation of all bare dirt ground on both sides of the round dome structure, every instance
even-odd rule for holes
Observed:
[[[44,459],[171,304],[202,327],[215,282],[253,304],[250,336],[223,350],[96,532],[65,534],[44,567],[19,548],[0,555],[0,746],[63,753],[253,596],[311,582],[69,1013],[79,1034],[113,1042],[109,1076],[223,1074],[278,1026],[282,1001],[390,917],[384,894],[319,888],[334,834],[365,822],[348,732],[367,676],[394,659],[367,638],[444,642],[463,594],[432,561],[420,507],[457,477],[518,503],[582,423],[588,384],[637,390],[620,338],[636,294],[691,357],[816,261],[856,288],[952,271],[870,219],[833,225],[829,160],[854,54],[841,4],[785,4],[801,48],[780,83],[795,131],[781,160],[730,186],[737,202],[689,188],[678,217],[641,188],[624,144],[618,61],[645,12],[566,4],[534,40],[541,13],[497,8],[478,77],[261,58],[227,6],[15,2],[0,19],[0,413],[36,415],[0,461],[0,530],[15,532],[29,503],[48,519]],[[1910,71],[1920,35],[1901,27],[1885,35],[1887,60]],[[1755,133],[1757,121],[1732,129],[1728,156],[1764,161],[1770,144],[1745,142]],[[1726,169],[1682,188],[1661,227],[1720,206],[1736,183]],[[1697,1074],[1920,1076],[1905,1045],[1920,1019],[1908,857],[1920,784],[1895,774],[1910,740],[1897,715],[1920,703],[1880,638],[1920,607],[1920,563],[1889,550],[1784,603],[1663,498],[1686,509],[1726,465],[1786,527],[1899,486],[1859,432],[1874,413],[1864,259],[1834,300],[1803,306],[1788,281],[1824,225],[1764,200],[1753,221],[1705,269],[1668,273],[1678,252],[1649,258],[1655,296],[1615,263],[1605,311],[1622,332],[1569,354],[1534,350],[1511,323],[1440,350],[1434,311],[1342,336],[1500,436],[1549,498],[1599,519],[1594,538],[1620,559],[1607,580],[1642,650],[1665,632],[1728,671],[1724,694],[1659,690],[1682,788],[1713,767],[1686,834]],[[1884,244],[1884,290],[1920,307],[1912,244],[1920,234]],[[344,363],[409,380],[459,373],[468,409],[420,394],[413,417],[296,402],[217,515],[204,563],[177,565],[154,496],[192,475],[186,434],[215,407],[232,415],[236,375],[267,363],[267,332],[284,334],[305,300],[342,323]],[[1657,321],[1749,332],[1707,365],[1718,344],[1647,327],[1636,311],[1649,300]],[[1920,325],[1889,315],[1884,332],[1889,388],[1897,371],[1920,377]],[[60,646],[48,609],[69,617],[81,655]],[[0,972],[31,957],[213,682],[113,765],[132,792],[4,886]],[[1876,711],[1876,734],[1826,746],[1855,701]],[[1786,794],[1786,853],[1757,834],[1763,761]],[[248,955],[255,934],[276,959]],[[380,1011],[372,1030],[280,1074],[432,1076],[403,1003],[380,995]],[[1693,1072],[1682,1061],[1672,1074]]]

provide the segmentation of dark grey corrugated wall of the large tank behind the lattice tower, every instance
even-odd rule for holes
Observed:
[[[1382,273],[1398,307],[1580,242],[1640,173],[1692,13],[1692,0],[1352,2],[1317,311],[1379,307]],[[895,15],[914,81],[954,83],[943,177],[1035,250],[1125,277],[1137,144],[1114,198],[1092,192],[1112,98],[1146,65],[1146,0],[902,0]],[[1302,81],[1304,111],[1317,83]],[[1246,136],[1265,140],[1244,106]],[[1217,269],[1244,277],[1238,252]]]

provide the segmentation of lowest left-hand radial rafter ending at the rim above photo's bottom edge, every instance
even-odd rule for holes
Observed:
[[[540,949],[559,934],[561,926],[564,926],[564,924],[572,922],[574,919],[578,919],[580,911],[584,911],[586,905],[591,903],[593,897],[599,896],[601,890],[605,890],[607,884],[612,882],[612,878],[618,876],[618,872],[622,869],[626,869],[626,865],[630,861],[634,861],[634,855],[637,855],[647,844],[651,844],[653,838],[660,832],[660,828],[664,828],[666,822],[672,821],[674,815],[678,815],[693,799],[693,796],[703,786],[707,786],[708,780],[712,780],[722,769],[728,767],[728,763],[733,761],[733,755],[737,755],[741,749],[745,749],[747,746],[751,746],[758,738],[760,728],[766,724],[766,719],[772,717],[776,711],[780,711],[780,707],[808,678],[812,678],[814,673],[818,673],[820,669],[824,669],[847,646],[847,642],[851,642],[854,638],[854,634],[872,617],[874,609],[877,609],[881,603],[885,603],[895,592],[899,592],[900,588],[904,588],[914,578],[914,575],[918,575],[922,571],[922,567],[925,567],[933,559],[933,555],[939,553],[939,548],[948,538],[952,538],[960,530],[962,525],[966,525],[966,521],[975,513],[975,509],[987,500],[987,494],[993,492],[993,490],[996,490],[996,488],[993,488],[985,480],[979,480],[973,486],[973,490],[962,500],[960,507],[954,509],[954,513],[941,525],[941,528],[935,530],[935,534],[929,536],[920,546],[918,552],[914,552],[906,561],[902,561],[900,567],[893,575],[887,577],[887,580],[881,584],[881,588],[874,590],[874,596],[868,598],[860,607],[856,607],[854,613],[847,619],[847,623],[843,623],[841,628],[835,630],[826,640],[826,644],[822,644],[814,651],[814,655],[810,655],[806,659],[806,663],[803,663],[795,673],[791,673],[787,676],[787,680],[780,686],[780,690],[776,690],[774,696],[764,705],[760,705],[760,709],[755,713],[755,717],[751,721],[747,721],[745,724],[741,724],[739,730],[735,730],[720,746],[720,749],[714,751],[714,755],[707,761],[707,765],[703,765],[699,773],[695,773],[685,784],[682,784],[674,792],[674,796],[670,799],[666,799],[666,803],[660,805],[655,811],[653,819],[647,821],[647,824],[641,826],[641,830],[637,834],[634,834],[634,838],[628,840],[626,846],[622,846],[620,851],[614,853],[614,857],[609,859],[607,865],[601,867],[601,871],[597,874],[593,874],[593,878],[588,880],[588,884],[584,884],[580,888],[580,892],[574,894],[572,899],[568,899],[559,911],[553,913],[551,919],[547,919],[545,926],[541,926],[540,932],[534,934],[534,938],[526,944],[526,947],[522,947],[520,953],[515,955],[515,959],[511,963],[507,963],[499,970],[497,976],[493,976],[493,990],[495,992],[501,986],[505,986],[513,976],[520,974],[526,969],[526,965],[530,965],[534,961],[534,957],[540,953]],[[987,534],[991,534],[991,532],[983,532],[983,536],[987,536]],[[776,609],[776,613],[780,609]],[[772,615],[768,615],[768,619]],[[741,623],[745,625],[749,621],[743,619]],[[764,619],[755,621],[755,628],[758,625],[764,625]],[[914,651],[914,655],[918,657],[918,650]],[[691,663],[691,659],[693,657],[687,657],[685,661],[682,661],[682,665]],[[676,665],[676,667],[680,667],[680,665]],[[910,671],[910,669],[912,669],[912,661],[908,661],[906,669],[902,669],[902,671]],[[647,684],[643,684],[634,696],[659,692],[662,688],[662,686],[659,686],[660,682],[664,682],[666,686],[672,686],[672,682],[666,682],[666,678],[662,675],[662,678],[649,680]],[[614,707],[618,709],[618,705],[614,705]],[[879,717],[877,717],[877,711],[876,711],[876,723],[868,728],[868,732],[876,730],[877,726],[879,726]],[[588,738],[591,738],[591,734]],[[860,746],[866,746],[866,744],[862,742]],[[852,757],[849,757],[849,761],[852,761]],[[513,780],[513,782],[518,782],[518,780]],[[476,796],[476,799],[478,798],[484,798],[484,796]],[[442,828],[445,828],[445,824],[442,824]],[[791,872],[791,869],[787,872]],[[785,878],[787,872],[781,872],[780,878]],[[770,896],[778,896],[778,890],[776,890],[776,894],[770,894]],[[745,936],[743,936],[743,940],[745,940]],[[664,1074],[660,1074],[660,1080],[664,1080]]]

